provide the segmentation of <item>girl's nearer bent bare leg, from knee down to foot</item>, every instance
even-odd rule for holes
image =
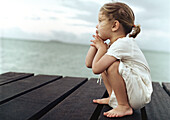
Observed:
[[[119,74],[119,63],[119,61],[114,62],[107,70],[108,80],[118,102],[116,108],[104,113],[107,117],[123,117],[133,114],[133,110],[128,102],[125,82]]]

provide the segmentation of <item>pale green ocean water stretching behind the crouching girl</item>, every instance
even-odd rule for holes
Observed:
[[[26,72],[75,77],[98,77],[85,66],[88,45],[31,40],[0,40],[0,73]],[[170,82],[170,53],[142,50],[152,81]]]

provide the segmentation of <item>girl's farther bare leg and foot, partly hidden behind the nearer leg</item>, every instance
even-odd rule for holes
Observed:
[[[109,94],[109,97],[108,98],[103,98],[103,99],[93,100],[93,102],[94,103],[99,103],[99,104],[108,104],[110,96],[112,94],[112,88],[111,88],[111,85],[110,85],[110,83],[108,81],[108,77],[107,77],[106,71],[104,71],[101,75],[102,75],[102,79],[103,79],[104,85],[106,87],[106,90],[107,90],[107,92]]]

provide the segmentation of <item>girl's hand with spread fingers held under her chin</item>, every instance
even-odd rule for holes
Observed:
[[[107,44],[104,43],[104,41],[99,37],[98,34],[93,35],[93,37],[95,38],[95,40],[91,40],[91,42],[93,42],[92,44],[90,44],[90,46],[96,47],[97,49],[105,49],[107,50]]]

